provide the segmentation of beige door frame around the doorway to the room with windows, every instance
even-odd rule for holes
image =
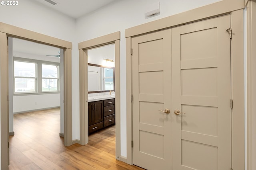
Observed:
[[[0,22],[0,78],[1,78],[1,168],[9,164],[9,113],[8,113],[8,42],[17,37],[64,49],[64,145],[72,145],[72,43]]]

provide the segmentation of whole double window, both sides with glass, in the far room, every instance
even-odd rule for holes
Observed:
[[[14,94],[59,92],[59,66],[60,63],[14,57]]]

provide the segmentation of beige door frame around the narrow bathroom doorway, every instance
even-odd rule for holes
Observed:
[[[80,86],[80,144],[85,145],[89,140],[87,49],[112,43],[115,45],[116,159],[120,160],[120,31],[78,43]]]

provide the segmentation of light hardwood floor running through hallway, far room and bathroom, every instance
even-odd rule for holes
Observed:
[[[64,147],[59,108],[14,115],[14,132],[9,170],[144,170],[115,159],[114,126]]]

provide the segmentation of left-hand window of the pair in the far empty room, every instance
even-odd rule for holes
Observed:
[[[36,63],[14,61],[14,92],[36,92]]]

